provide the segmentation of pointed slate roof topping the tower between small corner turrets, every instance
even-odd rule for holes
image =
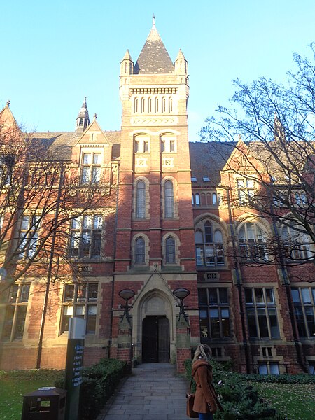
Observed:
[[[153,25],[144,48],[142,48],[137,63],[134,66],[134,74],[158,74],[173,73],[174,64],[169,57],[162,39]]]

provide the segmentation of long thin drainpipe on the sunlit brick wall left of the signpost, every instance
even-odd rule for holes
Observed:
[[[47,275],[46,288],[45,288],[45,297],[44,297],[44,302],[43,302],[43,311],[41,313],[41,326],[39,328],[36,369],[40,369],[40,367],[41,367],[41,355],[42,355],[42,352],[43,352],[43,332],[44,332],[44,328],[45,328],[45,318],[46,318],[47,309],[48,309],[48,297],[49,297],[49,291],[50,291],[50,281],[51,281],[51,277],[52,277],[52,262],[53,262],[53,259],[54,259],[55,243],[56,243],[56,235],[57,235],[56,227],[57,227],[57,221],[58,221],[58,214],[59,214],[59,207],[60,207],[60,197],[61,197],[61,194],[62,194],[63,180],[64,180],[64,162],[62,162],[62,165],[61,165],[59,185],[58,185],[57,204],[56,204],[56,210],[55,210],[55,218],[54,218],[54,221],[53,221],[53,224],[52,224],[52,242],[51,242],[51,248],[50,248],[48,275]]]

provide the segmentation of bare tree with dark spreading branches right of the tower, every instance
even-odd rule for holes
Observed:
[[[271,223],[272,235],[257,255],[269,264],[315,263],[314,44],[310,51],[310,57],[293,56],[295,72],[286,85],[234,80],[234,108],[218,106],[218,116],[208,118],[201,132],[202,139],[217,142],[213,147],[221,144],[225,200]],[[242,183],[229,185],[228,173]]]

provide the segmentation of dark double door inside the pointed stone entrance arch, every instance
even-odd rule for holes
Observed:
[[[169,363],[169,320],[146,316],[142,322],[142,362]]]

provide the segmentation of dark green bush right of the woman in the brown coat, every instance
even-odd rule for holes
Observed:
[[[191,377],[191,360],[186,360],[186,375]],[[214,384],[222,380],[223,385],[216,386],[222,396],[223,412],[216,412],[216,420],[271,420],[276,410],[269,407],[258,395],[258,391],[245,381],[239,380],[239,374],[228,372],[219,363],[211,361]]]

